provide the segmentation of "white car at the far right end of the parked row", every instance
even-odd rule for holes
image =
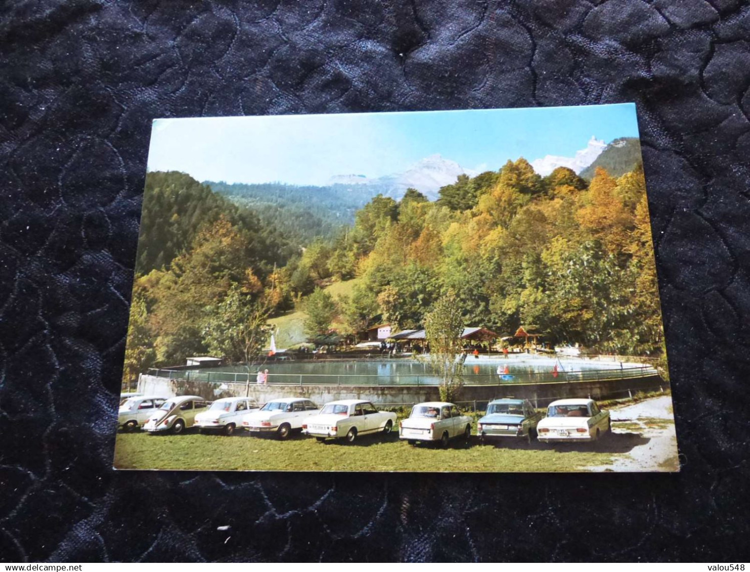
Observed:
[[[594,400],[557,400],[547,407],[547,417],[536,430],[542,443],[596,441],[610,430],[609,412],[599,409]]]

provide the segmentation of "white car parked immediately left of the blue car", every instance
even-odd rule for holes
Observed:
[[[406,439],[409,445],[437,441],[443,447],[447,447],[449,440],[454,437],[469,439],[471,421],[471,418],[463,415],[453,403],[417,403],[409,417],[399,424],[399,438]]]

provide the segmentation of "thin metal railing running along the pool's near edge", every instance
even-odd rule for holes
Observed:
[[[609,368],[602,370],[559,371],[556,377],[551,372],[511,373],[510,379],[496,373],[468,374],[463,376],[464,385],[514,385],[518,383],[559,383],[604,381],[610,379],[634,379],[656,375],[654,367]],[[169,379],[185,379],[189,382],[250,383],[256,382],[256,374],[200,370],[148,370],[148,375]],[[440,385],[437,376],[377,374],[326,374],[326,373],[269,373],[269,385]]]

